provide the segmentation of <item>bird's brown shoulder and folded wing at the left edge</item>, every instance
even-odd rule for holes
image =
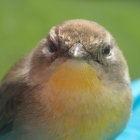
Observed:
[[[0,136],[12,129],[22,94],[28,89],[29,56],[21,58],[0,82]]]

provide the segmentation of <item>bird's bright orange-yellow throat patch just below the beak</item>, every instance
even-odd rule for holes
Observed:
[[[70,93],[94,90],[101,86],[97,73],[85,61],[68,60],[60,65],[49,80],[55,90],[65,90]]]

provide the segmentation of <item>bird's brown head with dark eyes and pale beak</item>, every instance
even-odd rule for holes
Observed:
[[[70,20],[54,26],[35,48],[31,73],[37,79],[44,78],[41,73],[50,76],[60,67],[65,72],[89,68],[97,79],[113,82],[120,88],[129,84],[127,64],[114,38],[104,27],[87,20]],[[62,75],[61,79],[65,77]]]

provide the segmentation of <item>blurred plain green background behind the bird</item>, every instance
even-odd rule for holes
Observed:
[[[131,78],[140,77],[139,1],[0,0],[0,79],[52,26],[77,18],[106,27],[128,61]]]

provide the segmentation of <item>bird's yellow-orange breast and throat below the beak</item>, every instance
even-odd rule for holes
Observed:
[[[47,110],[49,140],[101,140],[117,134],[129,117],[123,103],[129,97],[115,92],[86,62],[69,60],[61,64],[44,85],[41,96]]]

